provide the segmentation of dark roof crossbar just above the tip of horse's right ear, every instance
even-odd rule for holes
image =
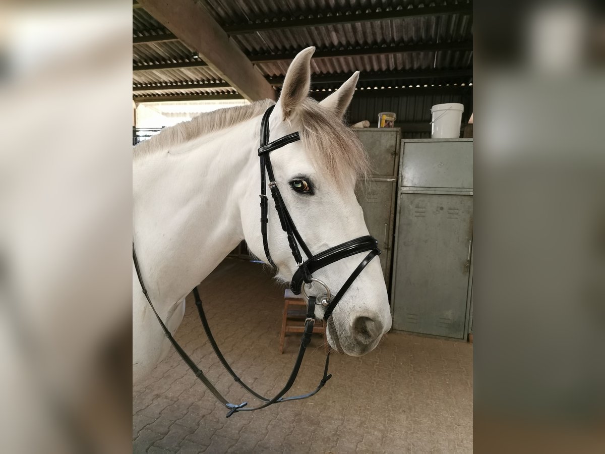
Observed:
[[[330,84],[341,83],[347,81],[353,73],[338,73],[338,74],[318,74],[311,76],[311,84]],[[446,77],[472,77],[473,69],[463,70],[427,70],[427,71],[381,71],[376,73],[361,72],[359,73],[360,82],[370,81],[404,81],[410,79],[443,79]],[[284,83],[284,76],[267,77],[267,81],[271,85],[281,85]]]

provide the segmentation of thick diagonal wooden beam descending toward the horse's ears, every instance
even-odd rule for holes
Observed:
[[[275,90],[223,28],[198,2],[191,0],[139,0],[155,19],[172,31],[218,76],[250,101],[276,99]]]

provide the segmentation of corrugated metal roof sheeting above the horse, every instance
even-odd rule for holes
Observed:
[[[223,27],[250,23],[274,22],[302,18],[325,18],[327,16],[355,15],[359,13],[374,13],[380,11],[406,10],[408,8],[424,8],[424,0],[197,0],[204,5],[214,19]],[[442,1],[438,4],[428,4],[430,7],[442,7],[466,2]],[[470,4],[470,2],[468,3]],[[161,35],[169,33],[162,24],[152,18],[143,8],[133,10],[133,36]],[[313,27],[276,28],[272,30],[253,31],[252,33],[236,33],[232,41],[244,51],[255,55],[296,53],[302,48],[315,45],[317,51],[342,49],[359,49],[368,47],[388,47],[395,45],[422,45],[439,43],[469,42],[473,39],[472,13],[450,13],[433,16],[418,16],[410,18],[382,19],[376,21],[355,22],[352,24],[317,25]],[[133,46],[133,64],[165,64],[174,62],[194,62],[195,51],[180,41],[163,41]],[[197,60],[199,61],[199,60]],[[291,60],[263,62],[255,64],[258,70],[267,77],[283,77]],[[373,55],[334,56],[330,58],[315,58],[312,60],[313,76],[326,74],[350,74],[359,70],[362,73],[374,71],[431,71],[459,70],[473,66],[473,52],[470,50],[439,50],[419,52],[399,52]],[[220,77],[209,67],[171,68],[161,70],[145,70],[133,73],[136,85],[148,84],[186,84],[200,82],[221,82]],[[468,85],[473,79],[468,75],[453,75],[440,77],[419,77],[417,79],[389,79],[383,81],[360,81],[358,87],[439,87],[446,84],[454,86],[464,83]],[[338,88],[341,82],[320,82],[313,85],[313,90],[331,91]],[[233,93],[232,89],[212,89],[192,91],[185,87],[174,91],[137,91],[135,96],[175,95],[178,93]],[[374,95],[373,95],[374,96]],[[426,99],[435,99],[434,94]],[[443,102],[460,102],[453,100],[455,96],[440,95]],[[387,103],[398,99],[403,103],[404,96],[382,96],[376,90],[376,99]],[[468,90],[459,95],[466,104],[472,99]],[[407,97],[405,97],[407,99]],[[457,99],[457,98],[456,98]],[[364,97],[368,105],[367,96]],[[378,101],[376,101],[378,102]],[[417,105],[416,96],[410,104]],[[429,102],[429,101],[427,101]],[[432,102],[432,101],[431,101]],[[426,103],[425,103],[426,104]],[[438,104],[438,103],[434,103]],[[463,103],[464,104],[464,103]],[[432,104],[431,104],[432,105]],[[429,106],[430,108],[430,106]],[[382,110],[388,110],[382,108]],[[406,116],[406,121],[424,121],[420,112],[417,115]],[[360,114],[361,115],[361,114]],[[416,119],[414,119],[416,118]],[[360,120],[365,118],[360,118]],[[353,118],[352,118],[353,120]]]

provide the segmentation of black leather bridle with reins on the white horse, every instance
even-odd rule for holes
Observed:
[[[260,131],[260,148],[258,148],[258,156],[260,157],[260,167],[261,167],[261,195],[260,195],[260,197],[261,197],[261,234],[263,235],[263,248],[264,248],[265,255],[267,256],[267,262],[269,262],[270,265],[275,267],[275,263],[273,263],[273,259],[271,258],[271,254],[269,252],[269,239],[267,237],[267,223],[269,222],[269,219],[267,216],[268,216],[268,211],[269,211],[269,208],[268,208],[269,204],[268,204],[268,199],[267,199],[267,195],[266,195],[266,186],[267,186],[266,176],[268,175],[269,176],[269,188],[271,191],[271,196],[273,197],[273,200],[275,202],[275,209],[280,218],[281,228],[287,234],[290,249],[292,251],[292,256],[294,257],[294,259],[296,261],[296,265],[298,265],[298,269],[296,270],[296,272],[294,273],[294,275],[292,277],[292,281],[290,283],[290,289],[296,295],[299,295],[302,293],[303,295],[305,295],[307,297],[307,314],[306,314],[306,320],[305,320],[305,325],[304,325],[304,332],[302,333],[302,338],[301,338],[301,345],[298,350],[298,356],[296,357],[296,362],[294,364],[292,372],[290,373],[290,377],[288,378],[288,381],[286,382],[286,385],[283,387],[283,389],[280,392],[277,393],[277,395],[275,395],[273,398],[266,398],[266,397],[260,395],[259,393],[255,392],[249,386],[247,386],[247,384],[244,383],[241,380],[241,378],[237,376],[237,374],[234,372],[234,370],[231,368],[231,366],[229,366],[229,363],[227,363],[226,359],[224,358],[223,354],[221,353],[220,349],[218,348],[216,341],[214,340],[214,336],[212,335],[210,326],[208,324],[208,319],[206,318],[206,314],[204,314],[204,309],[202,307],[200,294],[196,287],[193,289],[193,293],[194,293],[194,297],[195,297],[195,306],[197,307],[198,314],[200,315],[201,323],[204,327],[204,331],[206,332],[206,335],[208,336],[208,340],[211,343],[212,349],[214,350],[218,359],[221,361],[221,364],[223,364],[223,367],[227,370],[227,372],[229,372],[229,374],[234,378],[234,380],[237,381],[237,383],[239,383],[240,386],[243,387],[251,395],[253,395],[256,398],[258,398],[259,400],[263,401],[263,404],[260,404],[257,407],[246,407],[247,402],[243,402],[241,404],[232,404],[232,403],[229,403],[229,401],[227,401],[226,398],[224,398],[224,396],[214,387],[214,385],[211,383],[211,381],[208,379],[208,377],[206,377],[204,372],[201,369],[199,369],[199,367],[197,367],[197,365],[186,354],[185,350],[183,350],[183,348],[178,344],[178,342],[174,339],[174,337],[172,337],[172,334],[169,331],[168,327],[166,327],[166,324],[163,322],[160,315],[157,313],[157,311],[155,311],[154,305],[153,305],[153,303],[151,303],[151,298],[149,298],[149,294],[145,288],[145,284],[143,283],[143,278],[142,278],[140,268],[139,268],[139,262],[137,260],[136,252],[134,251],[134,243],[132,244],[132,260],[134,262],[134,268],[136,269],[137,277],[139,278],[139,283],[140,283],[141,289],[143,291],[143,294],[145,295],[146,300],[148,301],[149,305],[151,306],[151,309],[153,310],[155,317],[157,317],[157,320],[159,321],[160,325],[162,326],[162,329],[163,329],[166,337],[172,343],[172,346],[174,346],[175,350],[177,350],[177,352],[181,356],[181,358],[183,358],[183,361],[185,361],[185,363],[189,366],[189,368],[195,373],[195,376],[197,378],[199,378],[200,381],[202,381],[202,383],[204,383],[204,385],[210,390],[212,395],[214,395],[215,398],[229,410],[227,412],[227,418],[229,418],[229,416],[233,415],[236,412],[250,412],[253,410],[263,409],[263,408],[268,407],[275,403],[306,399],[312,395],[315,395],[317,392],[319,392],[319,390],[324,386],[324,384],[328,380],[330,380],[330,378],[332,377],[332,375],[330,375],[328,373],[328,366],[329,366],[329,362],[330,362],[329,353],[325,357],[324,375],[323,375],[321,381],[319,382],[318,387],[316,387],[315,390],[313,390],[310,393],[302,394],[299,396],[284,397],[284,395],[290,390],[290,388],[292,387],[292,385],[294,384],[294,382],[296,380],[296,376],[298,375],[298,370],[300,369],[300,366],[302,364],[302,358],[304,357],[304,353],[307,349],[307,345],[309,345],[309,342],[311,340],[311,334],[313,333],[313,326],[315,325],[315,306],[321,305],[325,308],[323,318],[325,321],[328,322],[328,327],[329,328],[332,327],[332,331],[330,331],[330,334],[332,335],[333,338],[335,338],[335,342],[336,342],[336,345],[338,346],[338,350],[339,350],[339,352],[342,353],[341,347],[339,347],[338,337],[336,337],[336,329],[334,327],[333,321],[330,318],[330,316],[332,315],[332,312],[336,308],[336,305],[339,303],[342,296],[345,294],[345,292],[348,290],[348,288],[350,288],[353,281],[359,276],[359,274],[363,271],[365,266],[367,266],[368,263],[370,263],[372,258],[376,257],[376,255],[379,255],[381,253],[380,249],[378,249],[378,240],[374,239],[374,237],[371,237],[370,235],[366,235],[363,237],[359,237],[359,238],[350,240],[345,243],[341,243],[340,245],[336,245],[336,246],[333,246],[332,248],[325,249],[325,251],[319,252],[316,255],[313,255],[311,253],[311,251],[307,247],[304,240],[302,240],[302,237],[299,234],[298,229],[296,229],[296,225],[293,222],[292,217],[290,216],[290,213],[288,212],[288,209],[286,208],[286,205],[284,204],[284,200],[281,197],[280,189],[278,188],[277,183],[275,182],[275,176],[273,176],[273,167],[271,165],[271,159],[269,156],[271,151],[278,150],[278,148],[281,148],[289,143],[300,140],[300,136],[298,133],[292,133],[292,134],[288,134],[287,136],[281,137],[280,139],[273,140],[273,142],[269,142],[269,117],[271,115],[271,112],[273,111],[273,108],[275,108],[275,105],[272,105],[271,107],[269,107],[263,115],[263,120],[261,121],[261,131]],[[307,260],[305,260],[304,262],[302,260],[302,255],[301,255],[301,252],[298,247],[299,245],[300,245],[300,248],[302,249],[302,251],[304,252],[304,254],[307,256]],[[328,286],[325,285],[325,283],[323,283],[322,281],[320,281],[316,278],[313,278],[313,272],[317,271],[318,269],[324,268],[325,266],[338,262],[338,260],[342,260],[342,258],[350,257],[352,255],[359,254],[360,252],[366,252],[366,251],[369,251],[369,252],[365,256],[364,260],[362,260],[361,263],[359,263],[358,267],[348,277],[348,279],[345,281],[345,283],[342,285],[341,289],[338,291],[338,293],[336,293],[336,295],[333,299],[330,298],[331,292],[330,292],[330,289],[328,288]],[[313,282],[316,282],[319,285],[322,285],[325,288],[325,291],[327,292],[327,294],[321,295],[321,296],[319,296],[319,298],[317,296],[307,296],[304,286],[310,285]],[[319,303],[316,302],[318,299],[320,301]]]

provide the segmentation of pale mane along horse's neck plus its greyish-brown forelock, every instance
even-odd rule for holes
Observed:
[[[218,109],[200,114],[189,122],[164,128],[159,134],[135,146],[133,159],[260,116],[272,104],[275,104],[272,100],[264,99],[243,106]],[[339,116],[321,107],[315,99],[307,97],[296,107],[292,122],[293,128],[298,128],[302,145],[309,153],[315,168],[335,180],[336,185],[344,186],[347,175],[367,178],[370,165],[364,147]]]

